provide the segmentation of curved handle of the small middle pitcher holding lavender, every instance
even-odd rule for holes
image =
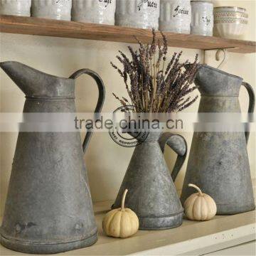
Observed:
[[[183,163],[186,159],[187,144],[186,140],[181,135],[171,134],[171,132],[164,132],[159,139],[159,145],[163,153],[164,146],[166,144],[178,154],[176,162],[174,164],[174,169],[171,172],[171,178],[173,179],[173,181],[175,181],[178,172],[181,170],[181,167],[183,166]]]

